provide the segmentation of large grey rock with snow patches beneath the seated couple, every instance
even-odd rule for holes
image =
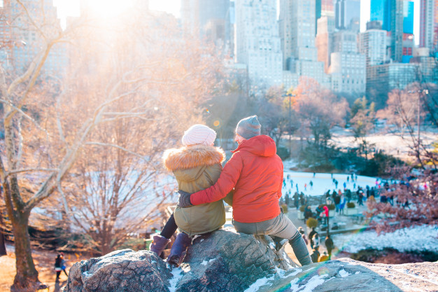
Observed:
[[[150,251],[114,251],[71,267],[64,292],[438,291],[438,263],[383,265],[350,259],[297,267],[268,236],[218,230],[197,237],[181,268]]]

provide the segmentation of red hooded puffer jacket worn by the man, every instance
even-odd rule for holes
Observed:
[[[190,196],[192,204],[222,199],[234,188],[233,218],[253,223],[280,214],[278,199],[283,183],[283,162],[276,155],[275,142],[265,135],[243,141],[225,165],[218,181]]]

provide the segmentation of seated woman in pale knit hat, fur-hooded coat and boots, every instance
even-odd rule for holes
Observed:
[[[216,132],[211,128],[193,125],[184,133],[183,147],[164,152],[164,167],[174,173],[179,190],[195,193],[216,183],[222,172],[221,163],[225,160],[225,153],[221,148],[213,146],[215,139]],[[167,261],[172,265],[180,265],[183,252],[192,242],[192,236],[217,230],[224,223],[225,208],[222,200],[189,208],[177,205],[160,235],[153,237],[150,250],[160,256],[176,228],[179,228],[181,233],[177,235]]]

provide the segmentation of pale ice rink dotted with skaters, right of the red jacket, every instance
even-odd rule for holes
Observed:
[[[293,195],[297,191],[297,185],[298,191],[303,192],[305,195],[323,195],[327,190],[344,190],[344,183],[346,188],[350,190],[357,190],[358,186],[361,186],[364,190],[366,186],[371,188],[376,186],[376,180],[381,183],[380,179],[370,176],[358,176],[358,179],[352,182],[351,174],[333,174],[332,176],[332,174],[316,172],[313,176],[313,172],[292,172],[288,169],[289,167],[285,165],[283,195],[286,193]],[[347,177],[349,178],[348,181]],[[333,179],[338,181],[337,186],[334,184]],[[310,186],[310,182],[313,183],[313,187]]]

